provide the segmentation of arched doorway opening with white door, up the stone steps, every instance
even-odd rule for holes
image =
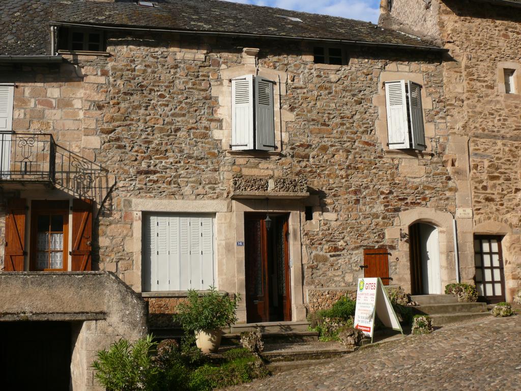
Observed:
[[[409,228],[409,238],[412,294],[441,294],[438,228],[425,223],[413,224]]]

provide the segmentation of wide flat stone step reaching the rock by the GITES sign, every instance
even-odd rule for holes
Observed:
[[[325,360],[341,357],[354,350],[337,342],[266,344],[261,356],[268,363]]]

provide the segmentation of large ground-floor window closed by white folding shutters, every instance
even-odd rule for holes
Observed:
[[[215,283],[214,216],[144,218],[143,291],[204,290]]]

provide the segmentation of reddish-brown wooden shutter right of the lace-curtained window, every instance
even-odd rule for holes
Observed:
[[[72,200],[72,271],[92,270],[92,200]]]

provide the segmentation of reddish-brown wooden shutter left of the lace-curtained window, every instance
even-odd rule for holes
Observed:
[[[23,272],[26,253],[26,211],[26,200],[22,198],[7,202],[4,272]]]

